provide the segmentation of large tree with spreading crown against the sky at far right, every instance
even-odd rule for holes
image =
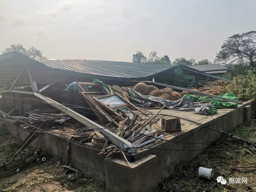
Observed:
[[[256,31],[228,37],[221,45],[220,52],[216,54],[215,61],[233,63],[241,58],[248,59],[251,66],[256,63]]]

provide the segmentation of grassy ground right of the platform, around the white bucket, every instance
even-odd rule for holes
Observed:
[[[255,122],[238,125],[230,132],[246,140],[256,142]],[[236,148],[233,142],[215,143],[208,149]],[[246,149],[203,152],[191,161],[177,166],[173,174],[159,184],[159,192],[252,192],[256,191],[256,155]],[[214,179],[197,178],[198,168],[212,168]],[[216,178],[222,176],[226,185],[218,184]],[[230,178],[248,178],[247,184],[228,184]]]

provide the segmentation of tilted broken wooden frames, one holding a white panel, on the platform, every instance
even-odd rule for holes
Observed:
[[[133,118],[135,115],[133,110],[145,113],[133,105],[128,99],[128,94],[122,90],[100,83],[76,82],[76,85],[77,91],[103,124],[112,123],[118,127],[119,122],[124,121],[127,117],[130,120]],[[86,116],[86,114],[83,115]]]

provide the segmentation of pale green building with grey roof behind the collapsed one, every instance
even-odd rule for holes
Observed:
[[[226,65],[226,67],[224,67],[219,64],[196,65],[196,66],[190,66],[190,68],[202,71],[209,75],[213,75],[213,76],[228,79],[228,80],[232,80],[233,70],[234,70],[233,68],[231,68],[231,66]],[[202,76],[202,78],[207,78],[207,77]],[[206,80],[206,79],[200,79],[200,80]]]

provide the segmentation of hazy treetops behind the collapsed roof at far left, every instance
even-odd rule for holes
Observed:
[[[11,51],[16,51],[21,53],[22,55],[25,55],[31,59],[47,59],[47,57],[43,56],[43,53],[41,50],[35,48],[35,47],[29,47],[28,49],[24,48],[22,44],[11,44],[10,47],[5,48],[3,53],[8,53]]]

